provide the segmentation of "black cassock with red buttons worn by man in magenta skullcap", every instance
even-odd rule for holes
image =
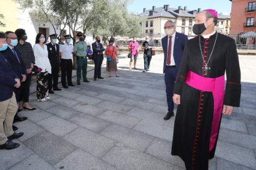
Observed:
[[[200,51],[199,42],[202,51]],[[214,44],[215,47],[213,49]],[[205,60],[205,63],[208,62],[207,67],[210,67],[207,72],[203,69],[205,67],[203,60]],[[225,71],[226,89],[224,89]],[[214,118],[216,118],[214,117],[216,95],[213,95],[213,92],[189,86],[186,80],[189,73],[193,73],[203,79],[218,79],[222,77],[223,97],[219,97],[222,98],[219,110],[222,110],[223,103],[224,105],[239,107],[241,73],[234,39],[220,33],[215,33],[210,38],[197,36],[190,39],[184,49],[174,86],[174,94],[181,95],[181,104],[178,105],[174,122],[171,154],[180,156],[186,164],[186,169],[205,170],[208,169],[208,160],[215,155],[221,112],[219,111],[218,113],[219,121],[217,121],[217,124],[215,122],[214,125],[216,134],[211,136],[211,130],[214,130]],[[204,82],[195,82],[194,80],[194,84],[201,86],[204,85]],[[221,84],[216,85],[222,86]]]

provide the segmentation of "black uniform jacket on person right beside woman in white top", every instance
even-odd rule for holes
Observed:
[[[56,48],[49,42],[46,44],[48,50],[48,58],[51,68],[59,67],[59,44],[55,44]]]

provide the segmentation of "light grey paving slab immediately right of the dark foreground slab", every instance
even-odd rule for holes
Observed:
[[[70,134],[64,136],[64,139],[98,158],[105,155],[116,144],[114,140],[82,127],[70,132]]]

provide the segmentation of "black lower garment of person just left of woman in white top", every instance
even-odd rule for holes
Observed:
[[[30,94],[30,83],[31,83],[32,73],[27,74],[26,81],[20,84],[22,91],[20,92],[20,97],[17,99],[18,102],[28,102]]]

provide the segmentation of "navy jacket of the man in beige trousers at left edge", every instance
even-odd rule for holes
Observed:
[[[15,78],[19,77],[12,71],[10,63],[0,52],[0,102],[12,97],[12,91],[16,84]]]

